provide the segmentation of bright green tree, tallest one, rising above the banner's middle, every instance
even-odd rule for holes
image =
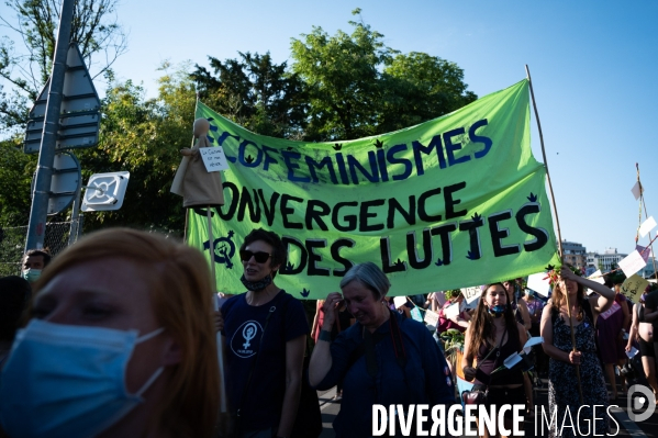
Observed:
[[[353,14],[360,13],[357,9]],[[380,68],[397,54],[383,35],[350,21],[352,35],[330,36],[322,27],[292,38],[292,70],[309,88],[309,139],[358,138],[376,133],[378,106],[384,97]]]

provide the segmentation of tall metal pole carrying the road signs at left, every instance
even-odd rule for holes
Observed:
[[[74,5],[75,0],[64,0],[62,2],[57,44],[55,45],[55,57],[53,59],[53,71],[51,74],[51,89],[48,90],[48,103],[44,116],[44,131],[42,133],[38,164],[36,166],[36,181],[34,183],[32,207],[30,209],[30,224],[27,225],[25,251],[29,249],[41,249],[44,245],[49,198],[48,192],[51,191],[51,180],[53,178],[55,143],[57,141],[57,131],[59,130],[62,90],[64,88],[66,58],[70,42]]]

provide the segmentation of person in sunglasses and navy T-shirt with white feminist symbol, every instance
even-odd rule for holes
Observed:
[[[287,260],[276,233],[252,231],[239,258],[247,292],[228,299],[218,317],[225,336],[228,405],[237,416],[238,437],[290,437],[309,323],[301,302],[274,283]]]

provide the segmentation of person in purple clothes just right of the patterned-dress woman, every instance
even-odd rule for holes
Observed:
[[[612,288],[613,283],[606,280],[606,288]],[[605,367],[605,374],[612,390],[612,400],[617,397],[617,384],[615,379],[615,367],[623,367],[626,363],[626,352],[624,347],[626,340],[626,327],[631,322],[631,314],[626,297],[620,292],[617,285],[614,287],[614,301],[610,308],[602,312],[596,319],[596,347],[601,362]],[[622,394],[626,393],[626,378],[620,373],[622,381]]]

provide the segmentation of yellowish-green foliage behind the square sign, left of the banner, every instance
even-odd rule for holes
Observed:
[[[180,162],[179,150],[189,147],[194,121],[194,86],[182,66],[159,79],[156,99],[132,81],[116,83],[103,101],[103,120],[97,148],[80,153],[83,179],[91,173],[131,172],[124,206],[114,212],[86,215],[85,231],[134,226],[182,235],[182,199],[169,192]]]

